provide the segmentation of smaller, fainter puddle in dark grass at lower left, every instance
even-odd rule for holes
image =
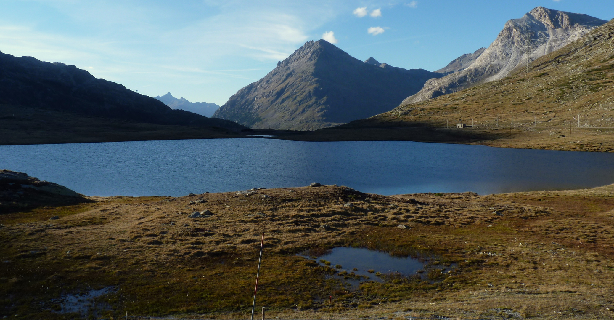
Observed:
[[[78,294],[65,294],[60,299],[52,300],[52,303],[60,305],[60,310],[54,310],[57,313],[79,313],[81,316],[98,316],[99,311],[111,310],[111,305],[106,302],[101,302],[99,297],[115,292],[114,287],[104,287],[99,290],[90,290],[87,292],[79,292]]]

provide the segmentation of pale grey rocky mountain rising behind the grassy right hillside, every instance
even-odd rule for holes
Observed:
[[[401,105],[502,79],[519,66],[561,49],[606,22],[585,14],[536,7],[522,18],[507,21],[497,39],[469,66],[427,81],[420,92],[403,100]],[[459,59],[463,60],[463,57]],[[439,72],[445,69],[453,71],[455,61]]]

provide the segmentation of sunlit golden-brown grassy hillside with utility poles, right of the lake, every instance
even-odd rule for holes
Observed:
[[[338,128],[405,127],[489,146],[613,152],[613,48],[614,19],[503,79]],[[456,123],[475,126],[456,129]]]

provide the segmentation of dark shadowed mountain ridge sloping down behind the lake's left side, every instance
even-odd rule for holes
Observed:
[[[132,122],[244,128],[222,119],[173,110],[161,101],[97,79],[76,66],[0,52],[0,104],[55,109]]]

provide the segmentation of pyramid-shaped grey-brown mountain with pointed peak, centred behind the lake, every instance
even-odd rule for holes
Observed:
[[[252,128],[315,130],[389,111],[440,76],[363,62],[327,41],[309,41],[213,116]]]

